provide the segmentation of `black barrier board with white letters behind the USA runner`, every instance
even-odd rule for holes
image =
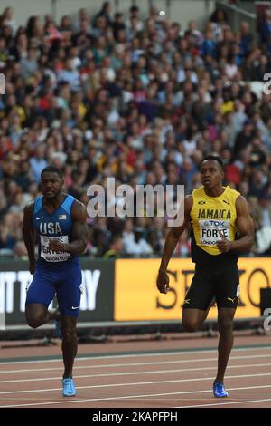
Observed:
[[[80,303],[80,322],[113,321],[114,276],[113,260],[82,260],[83,293]],[[25,324],[26,288],[33,276],[28,262],[0,262],[0,314],[5,313],[5,325]],[[51,307],[57,305],[53,301]]]

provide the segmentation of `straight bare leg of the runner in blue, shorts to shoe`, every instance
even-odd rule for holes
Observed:
[[[78,346],[76,323],[77,318],[74,316],[61,316],[62,353],[65,367],[63,377],[72,377],[72,367]]]

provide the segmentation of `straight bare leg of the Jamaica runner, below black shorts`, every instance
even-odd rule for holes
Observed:
[[[218,324],[220,332],[219,342],[219,359],[218,359],[218,373],[215,379],[216,382],[223,382],[224,374],[226,371],[227,363],[229,360],[229,353],[233,344],[233,318],[235,315],[235,308],[219,308]]]

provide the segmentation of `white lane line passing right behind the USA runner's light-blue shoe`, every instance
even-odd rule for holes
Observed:
[[[234,376],[227,376],[226,379],[247,379],[248,377],[266,377],[271,376],[271,373],[257,373],[257,374],[238,374]],[[111,383],[111,384],[94,384],[90,386],[77,386],[77,389],[98,389],[98,388],[116,388],[116,387],[124,387],[124,386],[144,386],[149,384],[165,384],[165,383],[182,383],[182,382],[202,382],[205,380],[213,380],[213,376],[211,377],[197,377],[194,379],[176,379],[176,380],[161,380],[155,382],[128,382],[128,383]],[[11,395],[16,393],[32,393],[32,392],[54,392],[61,391],[61,388],[50,388],[50,389],[32,389],[32,390],[22,390],[22,391],[5,391],[0,392],[0,395]]]

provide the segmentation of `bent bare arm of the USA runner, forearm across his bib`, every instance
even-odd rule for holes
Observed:
[[[87,208],[79,201],[75,201],[71,208],[71,218],[70,243],[63,244],[56,239],[51,239],[49,248],[55,251],[64,251],[70,253],[70,255],[79,255],[85,251],[88,244]]]

